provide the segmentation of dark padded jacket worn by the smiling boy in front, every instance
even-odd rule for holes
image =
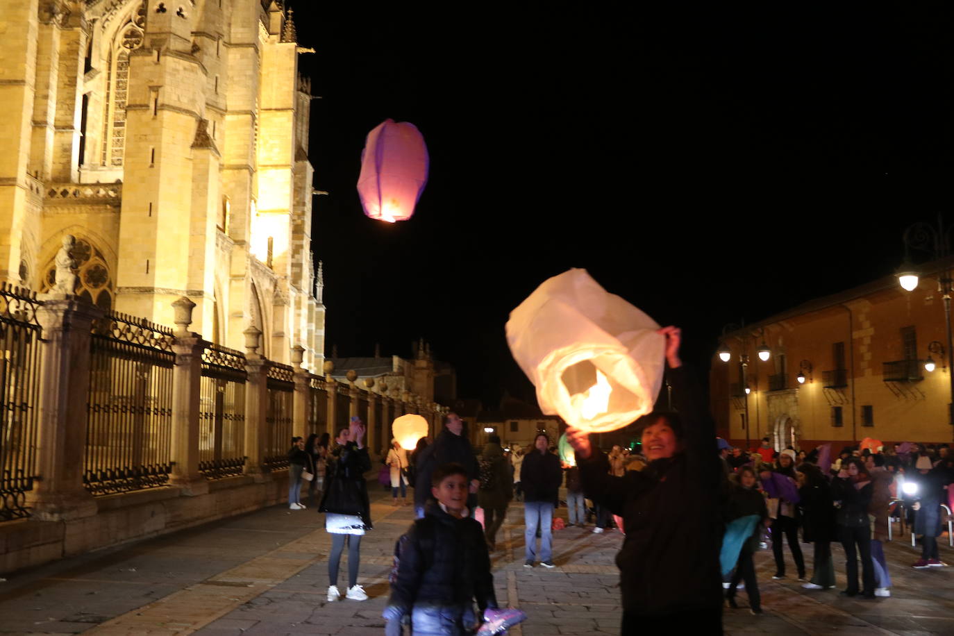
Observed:
[[[414,605],[469,605],[481,613],[497,606],[484,528],[471,517],[455,519],[428,503],[424,519],[398,540],[400,562],[385,615],[401,616]]]

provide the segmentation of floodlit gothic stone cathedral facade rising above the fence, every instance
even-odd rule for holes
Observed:
[[[75,293],[321,373],[310,83],[260,0],[26,0],[0,24],[0,280],[39,292],[76,237]]]

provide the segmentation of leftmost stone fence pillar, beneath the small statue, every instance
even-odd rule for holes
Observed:
[[[43,328],[36,463],[43,479],[27,493],[32,518],[61,522],[91,517],[97,506],[83,487],[90,331],[102,312],[79,297],[53,292],[36,312]]]

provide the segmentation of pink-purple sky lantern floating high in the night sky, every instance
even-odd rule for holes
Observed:
[[[364,214],[388,223],[410,218],[427,183],[427,166],[427,146],[417,127],[385,119],[364,141],[358,176]]]

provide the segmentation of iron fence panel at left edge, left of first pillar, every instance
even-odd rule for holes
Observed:
[[[27,492],[39,478],[36,407],[42,306],[35,294],[0,284],[0,521],[30,516]]]

